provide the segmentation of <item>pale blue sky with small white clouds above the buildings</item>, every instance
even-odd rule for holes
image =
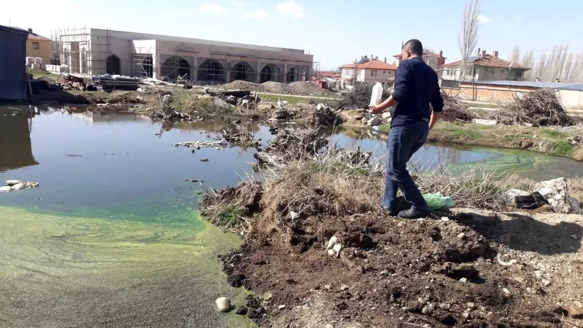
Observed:
[[[0,24],[50,37],[58,27],[113,30],[309,50],[322,68],[361,55],[388,57],[402,40],[420,39],[459,58],[458,30],[465,0],[27,0],[2,4]],[[478,47],[507,58],[512,47],[535,55],[569,43],[583,51],[583,1],[481,0]]]

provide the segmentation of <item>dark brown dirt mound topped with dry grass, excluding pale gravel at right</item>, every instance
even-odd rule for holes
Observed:
[[[540,271],[529,261],[501,260],[505,231],[495,214],[489,221],[387,218],[371,177],[342,169],[345,163],[300,163],[203,203],[211,217],[233,207],[245,215],[244,243],[223,257],[224,271],[231,285],[262,295],[250,311],[267,314],[262,325],[561,324]],[[324,311],[308,306],[315,299]]]

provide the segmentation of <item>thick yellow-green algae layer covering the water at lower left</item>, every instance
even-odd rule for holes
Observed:
[[[0,224],[0,326],[252,326],[213,308],[245,292],[216,260],[240,240],[206,222],[194,233],[0,207]]]

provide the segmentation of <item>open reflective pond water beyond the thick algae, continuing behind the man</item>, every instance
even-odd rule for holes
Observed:
[[[79,216],[90,211],[104,218],[142,221],[180,222],[185,211],[197,207],[203,187],[235,186],[242,176],[253,174],[246,163],[255,161],[253,148],[203,148],[193,153],[174,147],[175,143],[206,140],[241,128],[261,138],[264,145],[272,138],[266,125],[220,121],[163,125],[127,111],[66,113],[50,107],[3,107],[0,127],[0,179],[40,182],[36,189],[3,194],[0,205]],[[377,155],[385,151],[387,136],[370,130],[324,128],[322,133],[338,145],[359,144]],[[202,158],[209,161],[201,162]],[[425,145],[413,160],[429,167],[445,160],[462,167],[497,165],[501,171],[537,179],[574,176],[581,167],[574,160],[532,152],[444,145]],[[185,178],[204,183],[177,189]]]

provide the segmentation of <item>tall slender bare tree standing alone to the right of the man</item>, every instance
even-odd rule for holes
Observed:
[[[479,0],[468,0],[463,8],[461,30],[458,32],[459,53],[462,56],[461,81],[466,78],[468,70],[468,58],[474,53],[477,47],[477,40],[480,30],[480,4]]]

